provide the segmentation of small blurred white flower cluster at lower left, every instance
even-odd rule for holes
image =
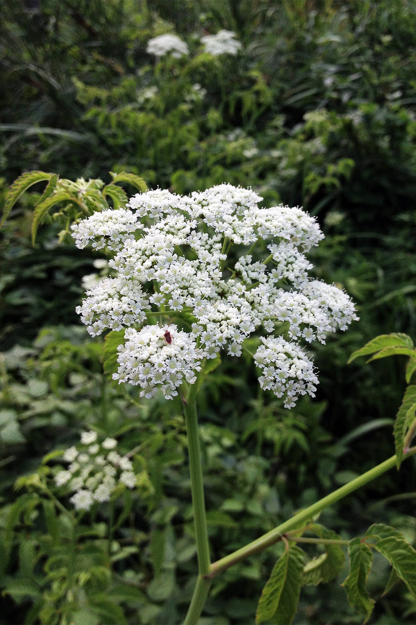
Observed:
[[[106,438],[99,444],[97,432],[89,431],[82,432],[81,446],[69,447],[64,452],[64,461],[69,466],[57,472],[55,483],[74,491],[69,501],[76,510],[89,510],[94,501],[109,501],[118,484],[136,486],[131,460],[120,456],[116,447],[116,439]]]

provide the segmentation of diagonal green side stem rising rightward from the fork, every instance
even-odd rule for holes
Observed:
[[[415,453],[416,447],[412,447],[411,449],[409,449],[404,457],[412,456]],[[234,551],[234,553],[230,553],[229,556],[225,556],[217,562],[214,562],[210,566],[210,571],[207,575],[207,578],[210,579],[212,577],[215,577],[215,575],[217,575],[220,571],[225,571],[225,569],[233,566],[233,564],[236,564],[237,562],[240,562],[241,560],[244,560],[246,557],[252,556],[255,553],[259,553],[260,551],[266,549],[266,547],[270,547],[275,542],[282,540],[285,532],[289,532],[292,529],[299,528],[299,525],[302,522],[309,521],[311,517],[313,517],[315,514],[318,514],[318,512],[321,512],[325,507],[331,506],[343,497],[349,495],[350,492],[356,491],[361,486],[364,486],[376,477],[379,477],[386,471],[389,471],[389,469],[392,469],[395,464],[396,456],[392,456],[388,460],[385,460],[381,464],[375,466],[373,469],[370,469],[370,471],[363,473],[359,477],[355,477],[355,479],[350,481],[348,484],[345,484],[345,486],[341,486],[336,491],[331,492],[331,494],[327,495],[323,499],[320,499],[320,501],[312,504],[312,506],[309,506],[304,510],[298,512],[291,519],[288,519],[284,523],[275,527],[275,529],[267,532],[267,534],[260,536],[260,538],[257,538],[257,540],[250,542],[248,545],[242,547],[241,549],[237,549],[237,551]]]

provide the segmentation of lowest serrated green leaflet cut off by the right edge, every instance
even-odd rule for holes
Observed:
[[[394,527],[376,523],[369,527],[369,536],[379,538],[374,548],[387,557],[397,576],[402,579],[409,591],[416,597],[416,551]],[[367,535],[366,534],[366,535]],[[390,580],[392,577],[390,576]],[[390,589],[393,583],[387,584]],[[394,582],[394,579],[392,580]],[[387,589],[385,592],[387,592]]]

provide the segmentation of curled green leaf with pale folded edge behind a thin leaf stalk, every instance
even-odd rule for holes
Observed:
[[[313,532],[320,538],[340,540],[340,536],[335,534],[332,529],[327,529],[317,523],[308,527],[308,531]],[[311,562],[307,562],[304,566],[302,584],[305,586],[308,586],[309,584],[316,585],[321,582],[329,582],[331,579],[334,579],[334,577],[337,577],[337,575],[339,575],[342,571],[345,560],[345,554],[344,551],[342,551],[342,548],[337,545],[324,545],[324,547],[325,553],[321,554]],[[314,564],[312,564],[312,562]]]

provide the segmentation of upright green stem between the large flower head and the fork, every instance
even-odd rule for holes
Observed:
[[[200,575],[209,572],[209,542],[207,516],[204,501],[204,482],[202,478],[201,447],[199,446],[198,419],[196,411],[197,384],[189,386],[184,400],[184,413],[188,437],[189,470],[191,472],[192,507],[197,543],[198,569]]]

